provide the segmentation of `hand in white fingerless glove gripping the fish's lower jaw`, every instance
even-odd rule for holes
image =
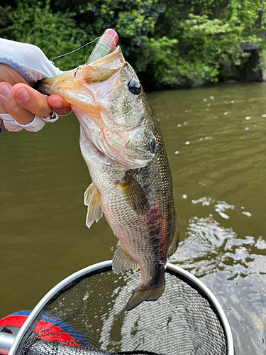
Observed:
[[[35,45],[0,38],[0,126],[3,121],[9,131],[36,132],[45,121],[54,122],[58,114],[69,114],[70,104],[65,99],[45,97],[33,89],[38,80],[60,73]]]

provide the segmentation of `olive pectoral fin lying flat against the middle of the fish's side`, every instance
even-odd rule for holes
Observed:
[[[148,209],[149,202],[140,184],[127,172],[123,182],[119,185],[131,207],[143,214]]]

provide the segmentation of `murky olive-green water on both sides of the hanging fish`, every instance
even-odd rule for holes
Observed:
[[[148,94],[174,182],[172,263],[213,291],[237,354],[266,351],[266,84]],[[265,115],[265,117],[263,116]],[[0,137],[0,318],[33,309],[74,271],[111,259],[105,219],[85,226],[90,178],[74,115]]]

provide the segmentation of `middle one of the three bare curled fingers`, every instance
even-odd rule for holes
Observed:
[[[48,98],[26,84],[15,84],[11,89],[11,96],[24,109],[40,117],[49,117],[52,109]]]

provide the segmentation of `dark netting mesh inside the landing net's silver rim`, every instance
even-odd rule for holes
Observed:
[[[209,298],[167,269],[165,293],[131,311],[125,306],[140,272],[110,267],[83,275],[43,307],[16,355],[226,355],[226,334]]]

